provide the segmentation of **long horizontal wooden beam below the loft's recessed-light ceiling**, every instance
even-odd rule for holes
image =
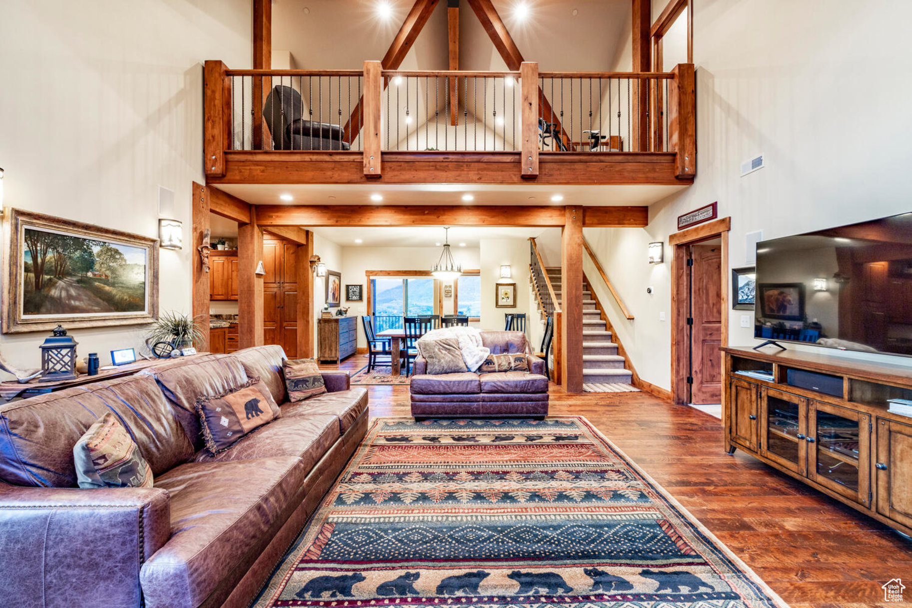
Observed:
[[[580,207],[592,227],[644,227],[646,207]],[[592,223],[586,223],[591,220]],[[257,205],[256,222],[272,226],[563,226],[562,207],[523,205]],[[582,247],[582,245],[580,245]]]

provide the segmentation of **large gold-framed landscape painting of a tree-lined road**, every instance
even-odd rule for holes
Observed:
[[[158,318],[155,239],[21,210],[7,231],[5,334]]]

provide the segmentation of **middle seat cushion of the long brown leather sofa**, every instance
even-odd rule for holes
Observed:
[[[309,472],[339,437],[338,419],[331,414],[283,416],[258,428],[223,452],[212,454],[208,449],[202,449],[194,460],[225,462],[294,456],[304,461]]]

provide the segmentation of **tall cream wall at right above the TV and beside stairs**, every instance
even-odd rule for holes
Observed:
[[[621,323],[614,311],[617,334],[639,375],[665,388],[670,324],[658,313],[670,318],[670,264],[649,267],[646,244],[667,243],[679,214],[719,201],[720,217],[731,216],[729,264],[738,267],[747,232],[770,239],[912,210],[912,121],[897,103],[912,95],[912,81],[894,70],[912,45],[884,35],[884,24],[912,19],[912,3],[698,1],[694,12],[694,185],[652,205],[646,229],[586,230],[637,316]],[[758,153],[767,166],[741,178],[741,162]],[[740,326],[749,313],[729,311],[731,345],[755,344],[752,318]]]

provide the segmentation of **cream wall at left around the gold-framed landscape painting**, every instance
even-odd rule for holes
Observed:
[[[249,0],[5,3],[0,166],[5,206],[158,236],[157,187],[191,226],[202,174],[202,61],[251,62]],[[3,244],[4,248],[7,243]],[[161,309],[191,311],[192,248],[161,252]],[[78,354],[139,347],[142,326],[77,329]],[[3,335],[36,367],[45,334]]]

